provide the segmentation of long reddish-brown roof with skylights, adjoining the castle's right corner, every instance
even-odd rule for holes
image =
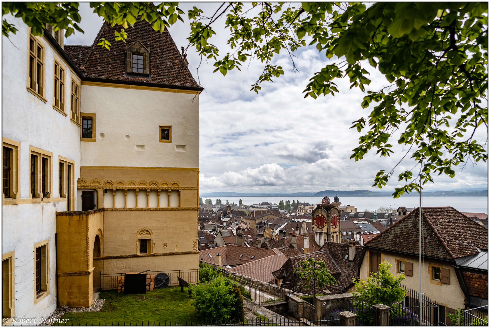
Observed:
[[[239,264],[255,261],[261,258],[267,258],[268,256],[275,254],[275,252],[271,249],[225,245],[225,246],[214,247],[209,250],[204,250],[199,252],[199,259],[202,258],[203,261],[212,264],[217,264],[216,255],[218,253],[220,253],[221,255],[222,266],[226,264],[231,266],[236,266]],[[211,254],[212,257],[209,257],[209,254]],[[242,257],[240,257],[240,255],[242,255]],[[254,258],[252,258],[252,256]]]

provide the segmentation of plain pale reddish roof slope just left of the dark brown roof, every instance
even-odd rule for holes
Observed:
[[[261,258],[253,262],[245,263],[229,270],[248,278],[269,283],[274,280],[272,272],[280,269],[287,260],[288,258],[284,254],[274,254],[267,258]]]

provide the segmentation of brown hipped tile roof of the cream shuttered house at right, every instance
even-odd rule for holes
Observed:
[[[424,255],[454,259],[488,248],[488,229],[452,207],[422,208]],[[418,255],[418,208],[366,246]]]

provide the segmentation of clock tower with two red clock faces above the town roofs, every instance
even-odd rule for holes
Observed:
[[[335,204],[330,204],[330,199],[324,197],[321,204],[312,212],[312,226],[315,230],[315,239],[321,246],[325,241],[340,242],[340,211]],[[317,237],[318,235],[318,237]]]

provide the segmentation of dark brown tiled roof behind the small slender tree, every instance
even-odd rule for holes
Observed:
[[[289,258],[280,269],[272,274],[275,277],[275,283],[281,287],[311,295],[313,294],[313,281],[310,285],[305,285],[304,278],[299,279],[294,275],[294,270],[301,266],[301,261],[308,258],[322,260],[337,283],[319,288],[317,293],[342,294],[348,292],[354,285],[352,280],[359,277],[363,253],[361,246],[355,246],[352,243],[325,242],[317,252]],[[299,282],[303,284],[300,285]]]

